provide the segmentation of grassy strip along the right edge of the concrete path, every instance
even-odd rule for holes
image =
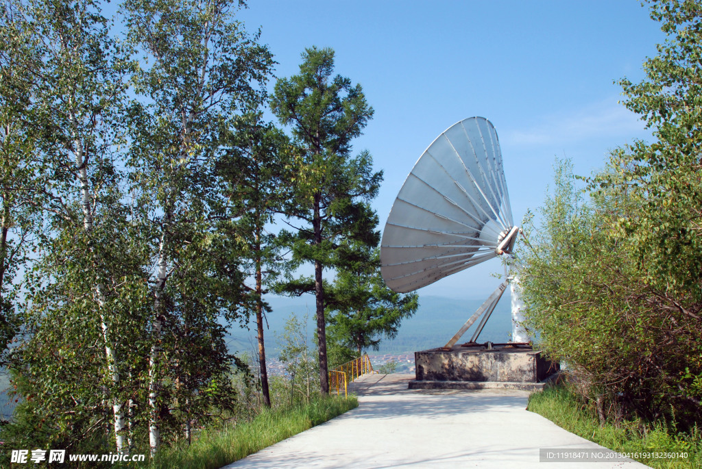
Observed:
[[[571,433],[614,451],[687,453],[687,459],[637,458],[637,461],[652,468],[702,468],[702,435],[699,430],[680,433],[663,425],[645,425],[641,421],[600,426],[591,409],[585,407],[567,388],[559,386],[532,394],[527,409]]]

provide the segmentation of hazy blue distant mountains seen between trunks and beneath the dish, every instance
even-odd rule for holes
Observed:
[[[271,297],[267,299],[272,306],[272,313],[267,315],[269,328],[265,330],[266,353],[277,357],[280,352],[280,338],[285,322],[291,314],[302,319],[307,315],[307,332],[312,341],[316,320],[314,318],[314,297],[289,298]],[[448,297],[421,296],[416,314],[405,320],[393,340],[380,342],[380,353],[402,353],[440,347],[456,334],[463,323],[475,313],[483,299],[454,299]],[[249,330],[237,326],[230,330],[230,350],[234,353],[254,355],[258,350],[256,341],[256,322],[248,323]],[[475,325],[465,333],[461,342],[468,341]],[[510,315],[510,297],[505,292],[498,303],[478,341],[506,342],[512,332]]]

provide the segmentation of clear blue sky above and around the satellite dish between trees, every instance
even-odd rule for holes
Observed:
[[[664,38],[638,1],[251,0],[238,18],[261,27],[277,76],[296,74],[314,45],[333,48],[336,72],[362,85],[375,116],[355,151],[385,172],[380,226],[420,154],[466,117],[497,129],[515,222],[541,205],[557,156],[589,175],[611,149],[649,137],[613,83],[642,79]],[[419,292],[486,297],[499,283],[491,271],[498,261]]]

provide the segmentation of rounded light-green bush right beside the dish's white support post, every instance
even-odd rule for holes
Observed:
[[[609,191],[586,203],[569,163],[557,167],[555,189],[530,247],[521,254],[527,326],[539,346],[578,376],[580,391],[603,415],[645,419],[700,417],[694,376],[702,372],[701,330],[670,303],[672,292],[647,283],[630,240],[614,226],[628,200]]]

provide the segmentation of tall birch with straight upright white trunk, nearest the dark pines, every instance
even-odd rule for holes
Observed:
[[[169,277],[187,275],[176,254],[187,233],[206,232],[216,218],[216,163],[220,135],[238,111],[256,107],[272,65],[270,52],[234,20],[243,3],[206,0],[128,0],[124,16],[131,43],[145,57],[135,91],[133,184],[154,226],[149,436],[152,456],[161,442],[160,393]],[[197,229],[195,228],[197,226]]]

